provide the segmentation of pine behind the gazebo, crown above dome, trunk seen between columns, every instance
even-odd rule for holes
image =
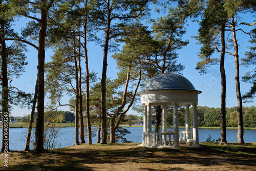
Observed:
[[[147,60],[147,74],[153,78],[164,72],[180,73],[184,66],[177,64],[179,57],[177,50],[188,44],[188,40],[183,41],[182,35],[186,33],[184,29],[184,18],[177,16],[174,9],[164,16],[152,20],[152,43],[150,52],[145,52],[144,58]],[[156,131],[159,131],[161,121],[161,106],[156,106]]]

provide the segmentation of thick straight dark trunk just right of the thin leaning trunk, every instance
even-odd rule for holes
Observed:
[[[45,39],[47,30],[47,1],[42,1],[40,32],[38,41],[38,97],[37,97],[37,118],[35,126],[35,151],[44,151],[44,112],[45,112]]]

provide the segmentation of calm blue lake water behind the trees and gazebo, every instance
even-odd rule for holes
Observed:
[[[128,141],[142,143],[143,127],[125,127],[131,134],[127,134],[125,138]],[[2,129],[0,129],[2,132]],[[10,150],[23,150],[26,143],[27,128],[13,128],[10,129]],[[173,131],[173,129],[167,129],[167,131]],[[179,129],[179,131],[185,131],[185,129]],[[66,147],[74,144],[75,139],[75,127],[63,127],[61,129],[61,135],[58,137],[57,147]],[[204,142],[209,134],[212,139],[218,139],[221,136],[220,129],[199,129],[199,142]],[[87,138],[86,138],[87,141]],[[256,130],[244,130],[245,142],[256,142]],[[2,139],[0,139],[2,143]],[[92,137],[92,142],[97,142],[97,137]],[[237,142],[237,130],[227,129],[227,142]]]

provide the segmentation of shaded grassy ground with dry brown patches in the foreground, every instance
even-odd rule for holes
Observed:
[[[201,148],[156,149],[138,143],[77,145],[43,154],[9,152],[0,170],[256,170],[256,142]]]

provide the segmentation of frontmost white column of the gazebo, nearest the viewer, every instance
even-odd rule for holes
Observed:
[[[178,103],[173,103],[174,107],[174,114],[173,114],[173,121],[174,121],[174,147],[179,148],[179,121],[178,121]]]

